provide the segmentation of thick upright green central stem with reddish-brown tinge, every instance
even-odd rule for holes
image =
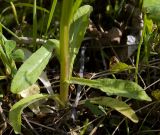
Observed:
[[[69,83],[69,28],[72,16],[73,0],[64,0],[60,22],[60,99],[66,104],[68,101]]]

